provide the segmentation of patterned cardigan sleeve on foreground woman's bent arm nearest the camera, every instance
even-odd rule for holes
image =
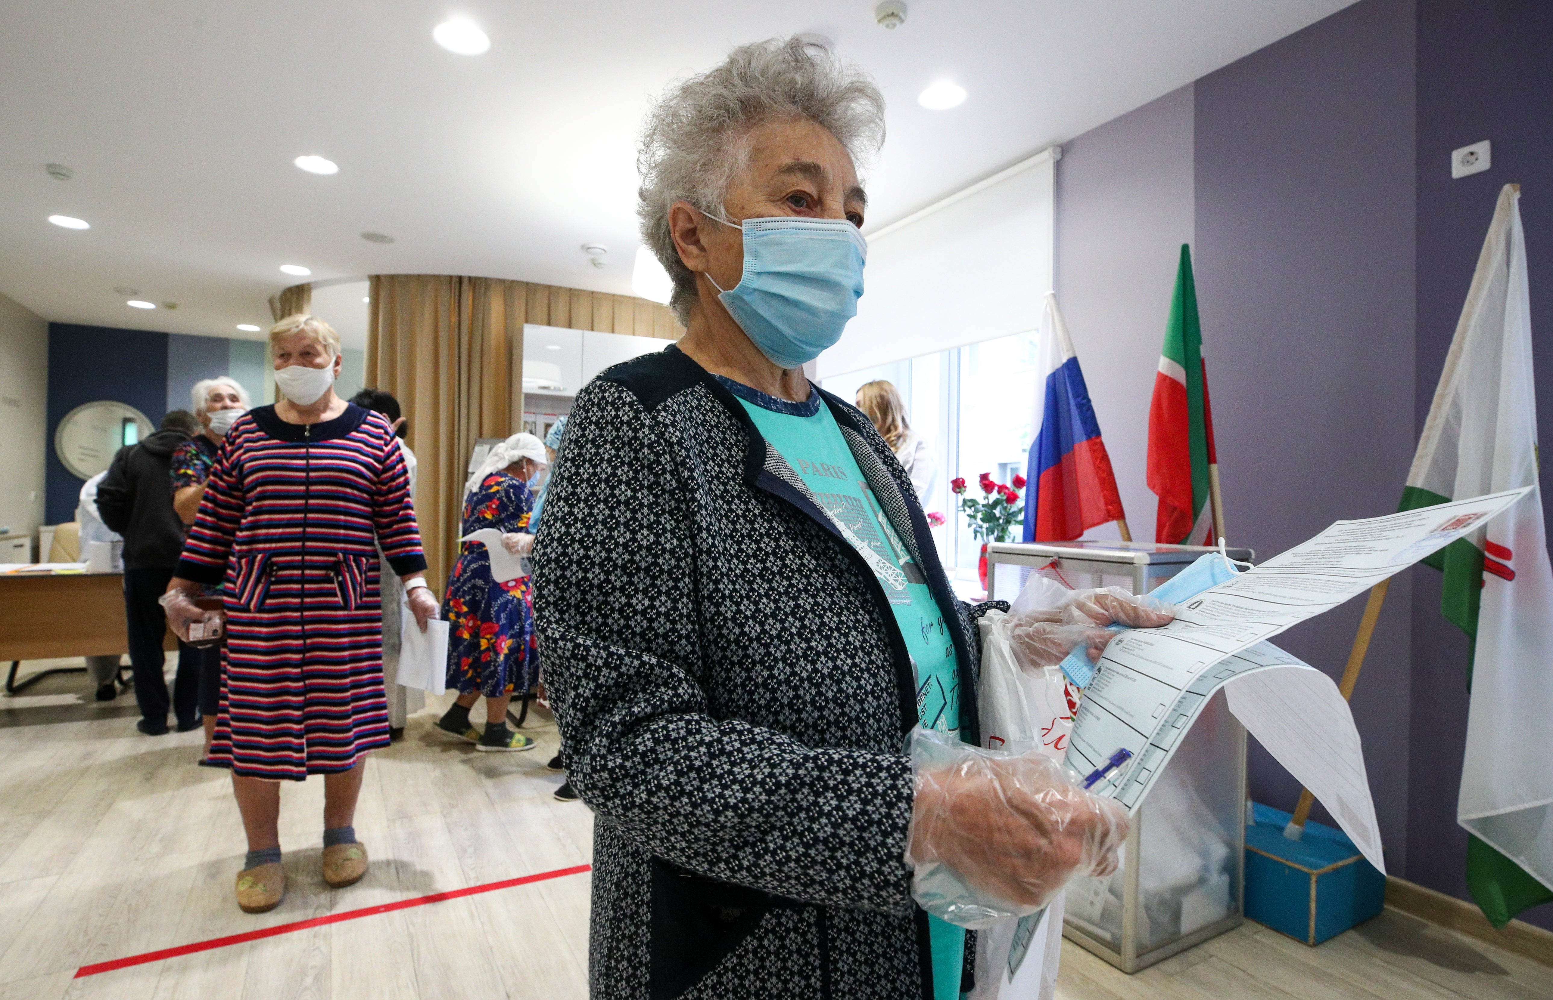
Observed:
[[[694,470],[672,461],[669,438],[632,393],[595,380],[553,470],[534,620],[567,776],[601,823],[682,870],[902,913],[907,758],[708,713]]]

